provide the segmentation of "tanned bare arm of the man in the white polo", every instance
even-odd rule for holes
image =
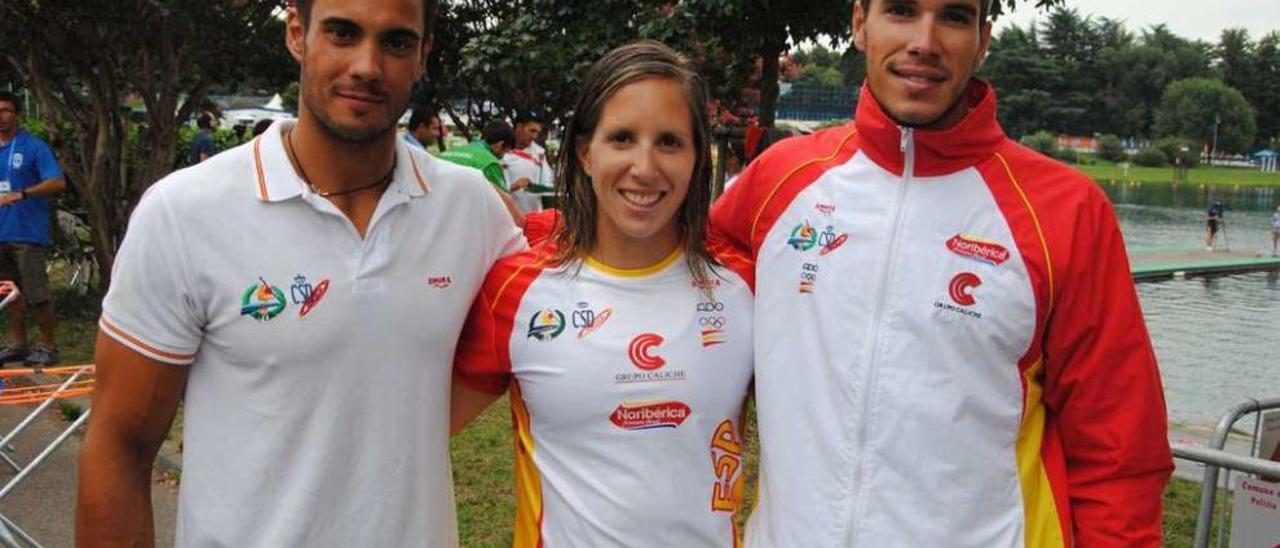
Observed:
[[[187,367],[97,335],[97,387],[79,460],[76,544],[154,547],[151,466],[187,385]]]

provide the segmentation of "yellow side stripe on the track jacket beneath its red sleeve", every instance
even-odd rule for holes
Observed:
[[[1044,362],[1037,360],[1023,373],[1027,402],[1023,406],[1023,424],[1018,430],[1018,480],[1023,487],[1023,512],[1027,522],[1028,547],[1065,547],[1062,526],[1059,521],[1053,489],[1044,471],[1041,447],[1044,442],[1044,402],[1041,401],[1041,371]]]

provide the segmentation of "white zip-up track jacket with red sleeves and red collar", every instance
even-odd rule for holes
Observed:
[[[1160,543],[1165,402],[1111,205],[1006,138],[989,85],[965,100],[920,131],[864,88],[712,211],[755,261],[751,547]]]

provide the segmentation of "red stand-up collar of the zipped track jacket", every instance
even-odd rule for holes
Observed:
[[[969,82],[961,99],[969,113],[950,129],[915,129],[915,169],[919,177],[940,177],[968,169],[991,157],[1005,140],[996,120],[996,91],[978,78]],[[854,117],[860,149],[877,165],[902,174],[902,128],[881,109],[864,83]]]

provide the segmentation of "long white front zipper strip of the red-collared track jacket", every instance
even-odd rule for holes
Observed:
[[[852,516],[849,520],[849,534],[846,536],[849,542],[847,545],[858,545],[858,529],[861,521],[863,511],[863,487],[864,474],[863,469],[867,466],[867,429],[868,429],[868,412],[872,408],[872,397],[876,393],[876,385],[879,376],[879,330],[882,316],[884,315],[884,300],[886,286],[890,279],[890,265],[892,265],[895,250],[897,248],[897,233],[900,232],[902,224],[902,204],[906,201],[908,186],[911,183],[911,178],[915,175],[915,141],[911,138],[914,134],[913,128],[899,128],[902,132],[902,138],[900,141],[899,149],[902,152],[902,181],[899,184],[897,197],[893,201],[892,220],[890,223],[888,239],[884,242],[884,252],[881,256],[881,270],[879,280],[876,283],[876,307],[872,310],[872,324],[870,332],[867,335],[868,350],[870,357],[867,360],[867,384],[861,394],[861,412],[858,415],[856,429],[858,429],[858,463],[854,469],[854,508]]]

